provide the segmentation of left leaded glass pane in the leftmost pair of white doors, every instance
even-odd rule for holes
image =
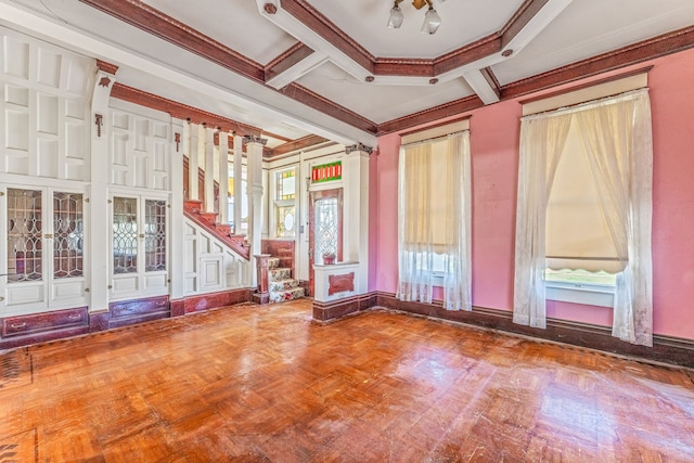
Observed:
[[[41,192],[8,189],[9,283],[42,279],[41,229]]]

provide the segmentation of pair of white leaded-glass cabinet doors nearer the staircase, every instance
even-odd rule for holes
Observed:
[[[114,195],[112,300],[168,294],[167,200]]]

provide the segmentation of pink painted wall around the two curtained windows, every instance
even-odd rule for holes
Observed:
[[[654,65],[654,332],[694,339],[694,50],[645,64]],[[473,304],[512,310],[520,104],[497,103],[471,116]],[[372,163],[370,291],[395,293],[397,285],[398,149],[399,134],[380,138]],[[611,309],[577,304],[548,301],[548,316],[612,323]]]

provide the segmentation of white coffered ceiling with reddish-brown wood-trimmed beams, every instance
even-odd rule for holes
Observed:
[[[0,24],[118,66],[117,83],[271,146],[377,134],[694,44],[692,0],[0,0]]]

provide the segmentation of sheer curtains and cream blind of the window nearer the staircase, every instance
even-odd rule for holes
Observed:
[[[472,310],[470,132],[447,137],[442,158],[436,156],[441,165],[434,164],[433,143],[400,150],[397,296],[432,303],[438,253],[445,256],[444,307]]]

